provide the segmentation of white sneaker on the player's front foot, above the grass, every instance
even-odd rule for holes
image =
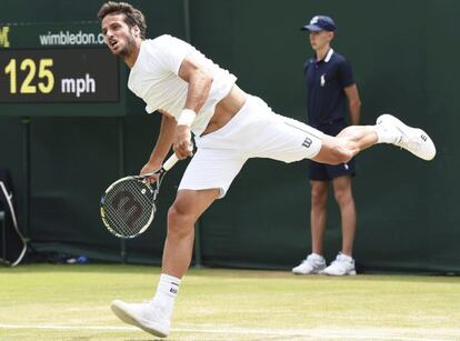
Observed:
[[[167,313],[151,301],[143,303],[126,303],[114,300],[110,304],[113,313],[123,322],[133,324],[159,338],[169,335],[171,321]]]

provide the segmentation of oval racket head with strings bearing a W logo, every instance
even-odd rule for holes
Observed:
[[[116,183],[106,193],[102,203],[108,228],[124,238],[143,232],[153,219],[157,192],[158,184],[152,188],[137,179]]]

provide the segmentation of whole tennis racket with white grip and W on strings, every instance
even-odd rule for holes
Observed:
[[[161,181],[178,157],[172,154],[157,171],[117,180],[101,198],[101,218],[106,228],[118,238],[131,239],[144,232],[157,211],[157,198]],[[149,183],[148,178],[158,175]]]

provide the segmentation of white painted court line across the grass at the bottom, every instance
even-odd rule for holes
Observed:
[[[111,331],[140,331],[134,327],[118,327],[118,325],[57,325],[57,324],[7,324],[0,323],[1,329],[41,329],[41,330],[111,330]],[[386,329],[363,329],[363,330],[333,330],[333,329],[251,329],[251,328],[216,328],[211,329],[200,328],[196,324],[194,328],[173,328],[173,332],[194,332],[194,333],[224,333],[224,334],[257,334],[257,335],[272,335],[272,337],[291,337],[291,338],[307,338],[307,339],[337,339],[347,338],[348,340],[400,340],[400,341],[453,341],[456,339],[442,338],[433,339],[431,337],[403,337],[398,335],[398,332],[403,330],[386,330]],[[409,332],[409,331],[406,331]],[[459,332],[454,330],[454,332]]]

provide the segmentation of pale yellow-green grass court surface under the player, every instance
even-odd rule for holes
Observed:
[[[160,270],[0,268],[0,340],[151,340],[111,313],[153,295]],[[294,277],[190,270],[170,340],[460,340],[460,278]]]

